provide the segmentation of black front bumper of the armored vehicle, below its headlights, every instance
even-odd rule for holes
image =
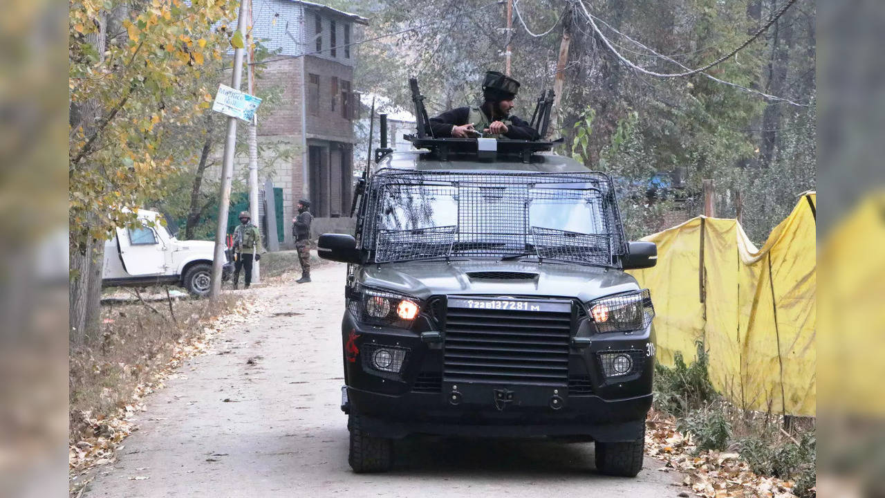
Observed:
[[[589,344],[573,344],[569,382],[559,386],[448,382],[443,374],[443,344],[426,343],[420,337],[421,331],[434,328],[423,315],[411,330],[403,330],[358,323],[345,312],[342,338],[347,404],[342,408],[358,413],[367,433],[385,438],[425,433],[557,436],[606,442],[632,441],[642,434],[651,406],[653,356],[642,370],[612,380],[604,377],[596,354],[645,350],[652,340],[651,327],[633,334],[592,334]],[[587,335],[586,327],[581,325],[577,335]],[[363,356],[377,346],[408,350],[400,375],[379,375],[366,366]],[[428,375],[438,379],[429,389]],[[452,399],[454,394],[458,394],[457,400]]]

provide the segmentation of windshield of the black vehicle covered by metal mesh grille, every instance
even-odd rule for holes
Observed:
[[[362,247],[374,261],[517,258],[612,265],[625,253],[611,180],[600,173],[381,170]]]

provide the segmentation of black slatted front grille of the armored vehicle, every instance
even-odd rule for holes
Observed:
[[[570,310],[446,311],[445,382],[568,384]]]

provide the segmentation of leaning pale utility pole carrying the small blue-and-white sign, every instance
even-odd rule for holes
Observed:
[[[249,12],[249,0],[241,0],[240,13],[236,22],[236,30],[240,32],[242,40],[246,39],[246,24]],[[234,48],[234,75],[231,78],[231,87],[240,89],[242,83],[242,52],[240,48]],[[221,295],[221,267],[224,265],[225,238],[227,236],[227,209],[230,205],[230,183],[234,177],[234,152],[236,148],[236,118],[227,117],[227,136],[224,142],[224,162],[221,166],[221,185],[219,186],[219,214],[218,225],[215,227],[215,256],[212,259],[212,290],[209,297],[216,300]]]

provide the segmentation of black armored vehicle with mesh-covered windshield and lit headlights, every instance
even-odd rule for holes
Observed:
[[[653,266],[655,245],[625,240],[607,175],[550,142],[427,136],[416,102],[419,150],[386,149],[382,115],[355,235],[319,237],[349,263],[350,466],[388,470],[409,434],[547,436],[595,441],[598,471],[635,476],[654,309],[623,270]]]

